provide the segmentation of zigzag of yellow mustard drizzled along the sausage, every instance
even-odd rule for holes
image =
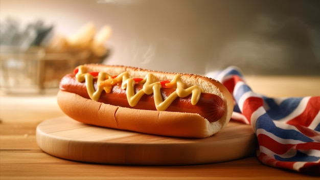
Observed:
[[[180,75],[175,75],[173,80],[170,83],[166,83],[166,86],[169,88],[175,88],[176,91],[171,93],[165,100],[162,98],[161,93],[161,83],[156,82],[155,76],[152,73],[148,73],[146,77],[139,83],[143,83],[142,89],[135,93],[134,85],[136,82],[133,78],[129,77],[128,72],[121,73],[116,78],[112,78],[109,74],[105,72],[99,72],[98,74],[98,88],[95,90],[93,79],[94,77],[85,72],[85,66],[79,66],[79,71],[76,74],[76,79],[79,82],[85,81],[86,88],[90,99],[98,101],[102,91],[110,93],[112,86],[122,82],[122,89],[126,89],[126,96],[128,103],[131,107],[138,104],[139,100],[143,95],[154,96],[154,104],[157,110],[166,110],[171,103],[177,98],[185,98],[191,94],[191,104],[195,105],[200,99],[201,89],[197,85],[193,85],[185,89],[185,84],[181,81]]]

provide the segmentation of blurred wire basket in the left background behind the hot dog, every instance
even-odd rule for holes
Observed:
[[[44,93],[59,87],[61,78],[73,72],[77,65],[101,63],[105,56],[93,56],[88,51],[47,53],[41,47],[21,49],[0,48],[0,89],[5,93]]]

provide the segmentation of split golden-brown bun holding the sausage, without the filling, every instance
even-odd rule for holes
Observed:
[[[130,76],[137,78],[144,78],[147,73],[152,73],[159,81],[172,79],[176,75],[176,73],[117,65],[85,64],[85,67],[88,71],[104,71],[111,75],[127,71]],[[181,74],[181,80],[187,87],[198,85],[204,93],[212,93],[221,97],[225,106],[222,118],[210,123],[198,114],[114,106],[61,90],[58,92],[57,101],[67,116],[96,126],[185,138],[206,138],[223,129],[231,119],[234,106],[233,97],[226,87],[214,79],[198,75]]]

